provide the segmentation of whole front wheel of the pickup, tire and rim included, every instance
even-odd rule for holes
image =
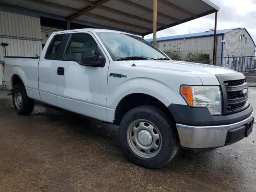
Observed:
[[[126,156],[147,168],[166,165],[179,148],[174,121],[154,106],[127,112],[120,123],[119,139]]]

